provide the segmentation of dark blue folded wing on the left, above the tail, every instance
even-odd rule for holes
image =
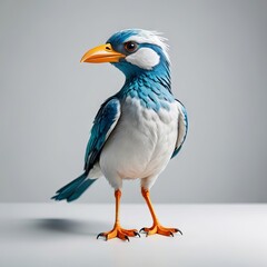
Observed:
[[[120,101],[115,97],[107,99],[93,120],[87,145],[85,157],[85,170],[87,175],[98,161],[102,147],[116,127],[119,118]]]

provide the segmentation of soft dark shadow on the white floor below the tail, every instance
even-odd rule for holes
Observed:
[[[66,218],[36,218],[24,224],[24,230],[34,236],[97,236],[100,231],[110,227],[110,225],[102,221],[73,220]]]

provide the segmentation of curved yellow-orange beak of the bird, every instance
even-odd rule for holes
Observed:
[[[119,62],[125,58],[123,53],[115,51],[110,43],[101,44],[87,51],[80,62],[102,63],[102,62]]]

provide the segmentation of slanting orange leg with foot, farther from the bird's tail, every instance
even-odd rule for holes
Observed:
[[[166,228],[166,227],[161,226],[155,214],[155,210],[154,210],[150,197],[149,197],[149,190],[147,190],[142,187],[141,194],[142,194],[142,197],[145,198],[147,206],[149,208],[149,211],[152,216],[154,224],[150,228],[147,228],[147,227],[141,228],[140,231],[146,233],[147,236],[155,235],[155,234],[159,234],[162,236],[174,236],[174,233],[180,233],[182,235],[182,233],[177,228]]]

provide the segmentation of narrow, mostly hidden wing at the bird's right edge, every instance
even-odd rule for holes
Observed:
[[[177,141],[176,141],[176,148],[175,151],[171,156],[171,158],[174,158],[181,149],[181,146],[184,144],[184,141],[186,140],[186,136],[187,136],[187,129],[188,129],[188,119],[187,119],[187,111],[186,108],[184,107],[184,105],[177,100],[177,106],[178,106],[178,135],[177,135]]]

